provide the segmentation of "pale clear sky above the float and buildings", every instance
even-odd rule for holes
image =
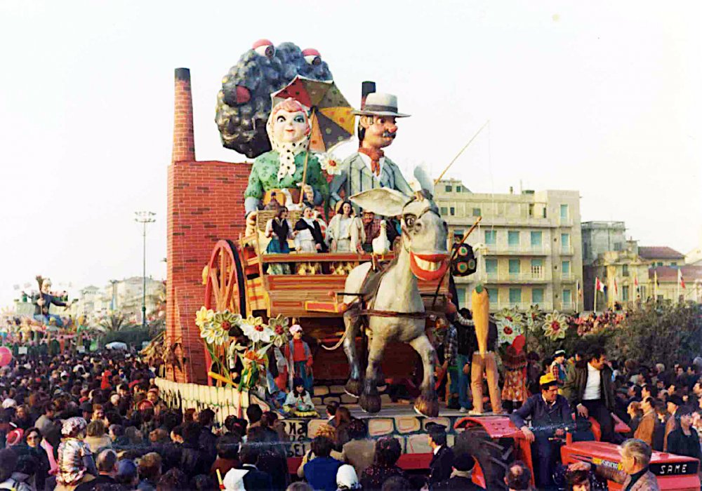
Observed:
[[[702,230],[702,3],[675,1],[0,0],[0,305],[13,285],[141,274],[153,210],[163,278],[173,69],[192,74],[197,159],[241,161],[214,123],[221,79],[260,38],[317,48],[357,105],[395,93],[388,155],[472,191],[578,189],[681,252]]]

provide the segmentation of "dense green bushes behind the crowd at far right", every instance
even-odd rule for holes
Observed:
[[[645,365],[689,363],[702,354],[702,313],[698,304],[649,302],[633,312],[607,344],[610,358]]]

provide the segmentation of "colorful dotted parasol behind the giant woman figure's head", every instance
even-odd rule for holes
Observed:
[[[306,79],[298,75],[271,97],[272,105],[292,97],[310,108],[310,150],[314,152],[329,152],[353,136],[353,108],[333,81]]]

